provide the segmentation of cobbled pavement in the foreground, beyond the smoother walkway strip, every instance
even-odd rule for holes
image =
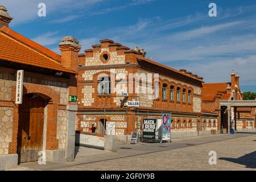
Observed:
[[[256,135],[81,164],[64,170],[256,170]],[[217,152],[210,165],[209,151]]]

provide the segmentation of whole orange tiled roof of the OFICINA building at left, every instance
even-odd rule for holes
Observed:
[[[60,55],[7,27],[0,30],[0,59],[55,71],[77,73],[60,64]]]

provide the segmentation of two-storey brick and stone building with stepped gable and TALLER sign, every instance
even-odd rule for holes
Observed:
[[[105,134],[106,122],[114,122],[115,135],[121,139],[132,131],[141,132],[143,118],[161,118],[162,113],[172,114],[172,137],[217,130],[218,114],[202,109],[203,78],[145,55],[143,49],[109,39],[79,55],[77,130],[89,132],[94,124],[97,133]],[[143,89],[143,84],[153,92]],[[127,107],[127,101],[133,100],[140,106]]]

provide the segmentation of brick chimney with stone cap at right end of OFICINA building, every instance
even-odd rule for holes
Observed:
[[[65,36],[60,43],[61,64],[73,71],[77,71],[79,64],[79,41],[72,36]]]

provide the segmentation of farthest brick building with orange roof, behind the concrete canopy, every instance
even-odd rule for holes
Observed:
[[[203,109],[219,114],[218,130],[228,132],[228,107],[222,106],[222,102],[242,101],[243,92],[240,90],[240,76],[232,71],[231,82],[203,84]],[[236,109],[236,110],[234,110]],[[239,131],[254,130],[255,107],[231,108],[231,113],[236,116],[236,129]],[[233,119],[233,120],[234,120]]]

